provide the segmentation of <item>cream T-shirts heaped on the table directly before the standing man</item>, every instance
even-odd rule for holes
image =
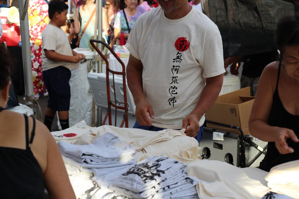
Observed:
[[[143,160],[144,157],[147,158],[147,155],[165,156],[176,159],[175,156],[181,156],[183,153],[186,155],[187,153],[194,154],[191,155],[194,159],[190,159],[189,157],[191,156],[187,155],[187,159],[190,159],[190,161],[201,159],[201,157],[199,156],[199,153],[201,153],[201,148],[198,146],[198,141],[195,138],[191,138],[185,135],[184,129],[147,131],[143,129],[119,128],[104,125],[94,129],[90,129],[88,134],[83,135],[73,144],[91,144],[95,139],[105,134],[106,132],[111,132],[114,135],[118,136],[120,140],[125,144],[132,144],[137,151],[135,155],[136,162]],[[190,148],[193,149],[190,150]],[[182,152],[187,149],[189,150],[189,152]],[[168,154],[167,152],[170,153]],[[180,153],[181,155],[177,155],[176,152]]]

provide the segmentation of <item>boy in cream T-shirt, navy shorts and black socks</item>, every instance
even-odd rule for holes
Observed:
[[[53,118],[58,111],[63,129],[69,127],[71,90],[68,83],[71,78],[69,69],[79,67],[85,55],[74,52],[61,26],[65,25],[68,5],[61,0],[52,0],[49,4],[50,23],[42,32],[42,75],[49,92],[44,124],[51,131]]]

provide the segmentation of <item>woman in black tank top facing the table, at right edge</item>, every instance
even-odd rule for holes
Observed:
[[[277,24],[279,61],[263,71],[251,109],[251,135],[268,141],[260,169],[299,160],[299,16]]]

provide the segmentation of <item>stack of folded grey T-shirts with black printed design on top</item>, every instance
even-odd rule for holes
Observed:
[[[116,176],[109,189],[128,198],[198,198],[198,179],[188,177],[186,165],[152,156]]]

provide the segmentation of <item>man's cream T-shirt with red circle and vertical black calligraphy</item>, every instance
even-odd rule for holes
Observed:
[[[126,47],[143,64],[143,92],[154,109],[150,120],[155,127],[181,129],[205,78],[225,72],[218,27],[195,7],[176,20],[166,18],[161,7],[142,14]]]

